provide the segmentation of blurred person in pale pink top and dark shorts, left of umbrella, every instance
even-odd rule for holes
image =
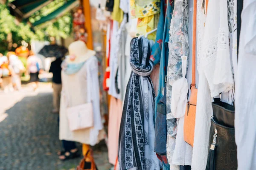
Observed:
[[[29,82],[32,83],[32,87],[34,91],[38,88],[38,82],[39,82],[39,73],[42,72],[41,69],[41,59],[37,57],[33,51],[29,51],[29,57],[27,59],[26,67],[27,71],[30,75]]]

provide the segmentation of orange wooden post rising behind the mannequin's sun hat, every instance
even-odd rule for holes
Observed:
[[[84,11],[85,24],[84,27],[87,30],[87,47],[93,50],[93,32],[91,26],[91,14],[90,14],[90,0],[82,0],[82,6]]]

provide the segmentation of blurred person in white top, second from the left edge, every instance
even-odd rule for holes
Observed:
[[[16,56],[15,52],[8,52],[7,57],[9,58],[9,65],[13,68],[13,75],[12,75],[12,84],[15,90],[21,89],[21,79],[20,74],[23,73],[26,69],[20,59]]]

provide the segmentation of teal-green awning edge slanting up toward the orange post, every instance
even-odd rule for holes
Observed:
[[[80,4],[79,0],[67,1],[67,3],[65,3],[60,8],[56,9],[55,11],[48,14],[47,16],[42,17],[40,20],[35,21],[35,23],[32,23],[32,26],[38,26],[42,23],[46,23],[47,21],[56,20],[67,11],[70,11],[72,8],[75,8],[76,6],[79,6],[79,4]]]

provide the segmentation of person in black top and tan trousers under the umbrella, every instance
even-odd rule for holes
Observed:
[[[51,63],[49,72],[52,73],[53,88],[53,113],[59,113],[61,102],[61,58],[57,58]]]

